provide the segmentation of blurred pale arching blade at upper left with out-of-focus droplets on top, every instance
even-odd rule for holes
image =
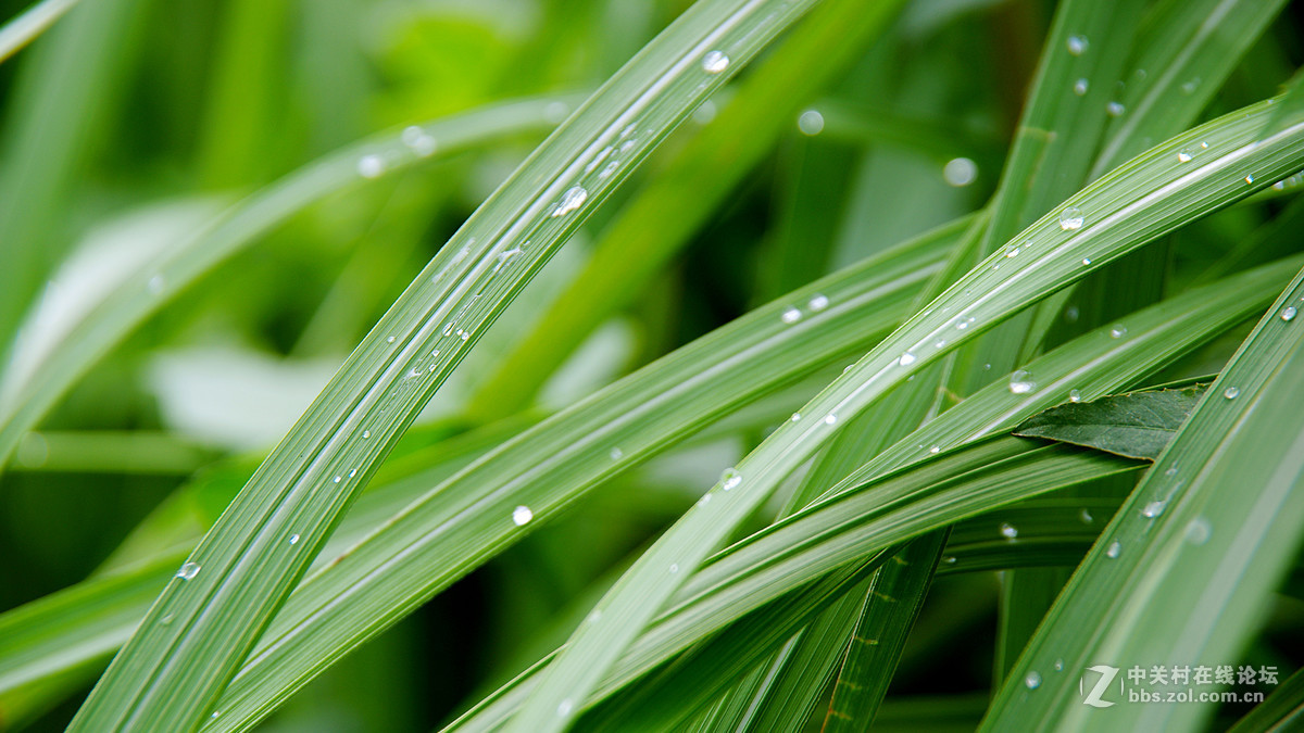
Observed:
[[[25,321],[0,383],[0,467],[22,434],[113,344],[173,295],[291,215],[333,193],[417,164],[428,155],[455,154],[488,140],[550,129],[557,99],[527,99],[454,115],[403,133],[387,133],[327,155],[249,196],[158,258],[124,271],[99,297],[68,318],[47,299]],[[438,147],[438,149],[437,149]],[[377,172],[374,166],[379,166]],[[57,283],[67,274],[55,277]],[[85,291],[78,290],[78,293]]]

